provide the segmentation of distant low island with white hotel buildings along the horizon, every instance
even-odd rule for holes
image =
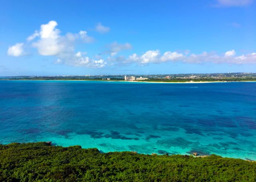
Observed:
[[[134,81],[164,83],[204,83],[228,81],[256,81],[256,73],[208,73],[167,75],[56,75],[0,77],[8,80],[84,80],[84,81]]]

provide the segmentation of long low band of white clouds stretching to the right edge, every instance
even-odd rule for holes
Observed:
[[[150,63],[164,63],[164,62],[174,62],[180,61],[183,63],[228,63],[228,64],[256,64],[256,53],[249,53],[246,55],[235,56],[236,51],[230,50],[226,51],[223,55],[218,55],[216,53],[203,52],[201,54],[188,53],[178,53],[176,51],[166,51],[161,54],[159,50],[149,50],[142,55],[137,55],[136,53],[125,57],[117,57],[110,59],[111,62],[122,62],[123,64],[137,63],[138,65],[148,65]]]

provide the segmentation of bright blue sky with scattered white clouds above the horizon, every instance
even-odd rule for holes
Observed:
[[[256,72],[256,0],[2,0],[0,76]]]

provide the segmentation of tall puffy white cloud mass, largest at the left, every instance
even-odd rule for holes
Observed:
[[[75,53],[74,45],[76,41],[83,43],[91,43],[94,39],[88,36],[86,31],[81,30],[76,34],[67,33],[61,36],[61,31],[56,28],[58,26],[56,21],[50,21],[47,24],[42,24],[40,30],[36,30],[34,34],[30,35],[27,40],[32,42],[32,46],[38,50],[40,55],[56,56],[58,59],[56,64],[68,64],[73,66],[86,67],[104,67],[106,61],[104,59],[91,59],[84,56],[84,52],[78,51]],[[37,39],[37,40],[36,40]]]

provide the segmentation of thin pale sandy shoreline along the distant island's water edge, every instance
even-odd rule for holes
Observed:
[[[185,82],[171,82],[171,81],[125,81],[125,80],[63,80],[63,79],[0,79],[10,81],[104,81],[104,82],[129,82],[129,83],[230,83],[230,82],[256,82],[256,81],[185,81]]]

